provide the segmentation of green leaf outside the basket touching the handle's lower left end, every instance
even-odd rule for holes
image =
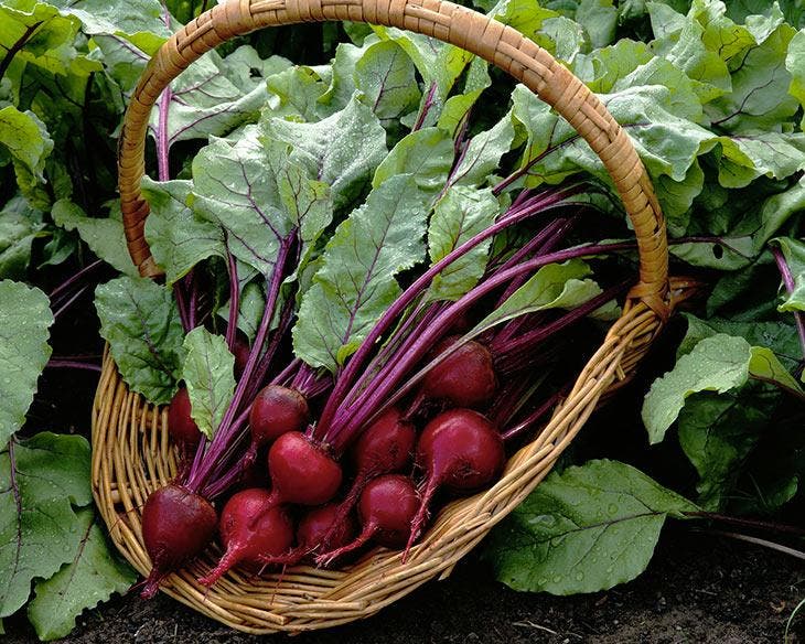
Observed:
[[[54,203],[51,215],[57,226],[77,230],[89,249],[109,266],[131,277],[139,275],[126,246],[120,218],[88,217],[80,206],[69,200]]]

